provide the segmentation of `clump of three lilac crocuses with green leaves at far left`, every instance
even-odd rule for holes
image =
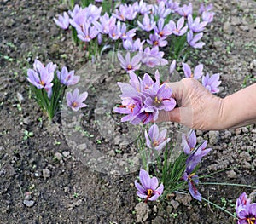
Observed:
[[[61,71],[55,71],[56,65],[49,62],[46,66],[39,60],[33,63],[33,69],[27,70],[27,81],[32,83],[36,99],[42,109],[48,113],[51,120],[56,110],[59,108],[60,101],[63,97],[67,86],[79,82],[80,77],[74,75],[74,71],[68,72],[67,67],[63,66]],[[67,105],[73,111],[86,106],[82,102],[87,98],[87,93],[79,96],[79,90],[75,89],[73,94],[67,93]]]

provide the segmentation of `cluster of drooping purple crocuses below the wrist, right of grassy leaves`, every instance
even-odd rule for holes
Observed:
[[[212,149],[207,148],[207,141],[196,144],[195,130],[190,130],[186,135],[183,134],[182,146],[183,151],[188,155],[183,179],[188,182],[191,196],[201,201],[201,193],[198,192],[195,186],[199,183],[199,176],[195,175],[193,171],[201,162],[201,158],[205,157]]]

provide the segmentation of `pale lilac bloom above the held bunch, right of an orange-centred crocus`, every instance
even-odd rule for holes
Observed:
[[[158,47],[154,47],[152,49],[147,47],[143,51],[142,62],[149,67],[166,66],[168,64],[168,60],[163,58],[164,55],[165,53],[163,51],[159,51]]]

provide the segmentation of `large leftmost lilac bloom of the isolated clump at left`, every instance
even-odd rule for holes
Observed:
[[[55,68],[56,65],[54,65],[52,62],[44,67],[39,60],[35,60],[33,69],[27,70],[26,79],[38,89],[51,89],[53,86],[53,83],[51,82],[54,78]]]

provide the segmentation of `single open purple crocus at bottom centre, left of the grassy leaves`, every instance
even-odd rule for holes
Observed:
[[[144,169],[140,170],[140,182],[135,181],[135,187],[137,188],[137,196],[139,198],[145,198],[145,202],[155,201],[164,191],[163,184],[160,184],[156,177],[150,178],[148,172]]]

